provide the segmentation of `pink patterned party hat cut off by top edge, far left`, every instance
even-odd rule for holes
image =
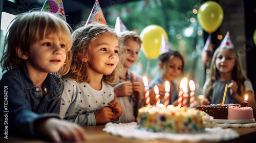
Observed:
[[[41,11],[49,11],[66,21],[62,0],[46,0]]]

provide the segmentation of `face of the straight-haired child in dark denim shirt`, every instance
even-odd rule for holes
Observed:
[[[66,60],[66,43],[57,36],[46,37],[30,46],[26,66],[42,73],[56,73]]]

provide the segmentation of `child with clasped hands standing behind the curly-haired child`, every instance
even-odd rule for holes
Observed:
[[[126,47],[126,56],[123,60],[123,70],[119,76],[119,82],[112,86],[117,96],[116,101],[123,109],[120,123],[130,123],[136,122],[138,109],[143,106],[145,97],[142,77],[129,69],[139,58],[142,41],[139,35],[133,31],[122,32],[120,41]]]

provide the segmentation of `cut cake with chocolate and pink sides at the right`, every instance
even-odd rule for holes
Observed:
[[[199,105],[196,109],[206,112],[214,119],[224,120],[248,120],[253,119],[252,108],[242,107],[240,104],[211,104]]]

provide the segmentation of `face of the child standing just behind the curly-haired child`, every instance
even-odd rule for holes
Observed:
[[[124,67],[130,68],[139,58],[140,45],[133,39],[126,40],[126,56],[124,59]]]

